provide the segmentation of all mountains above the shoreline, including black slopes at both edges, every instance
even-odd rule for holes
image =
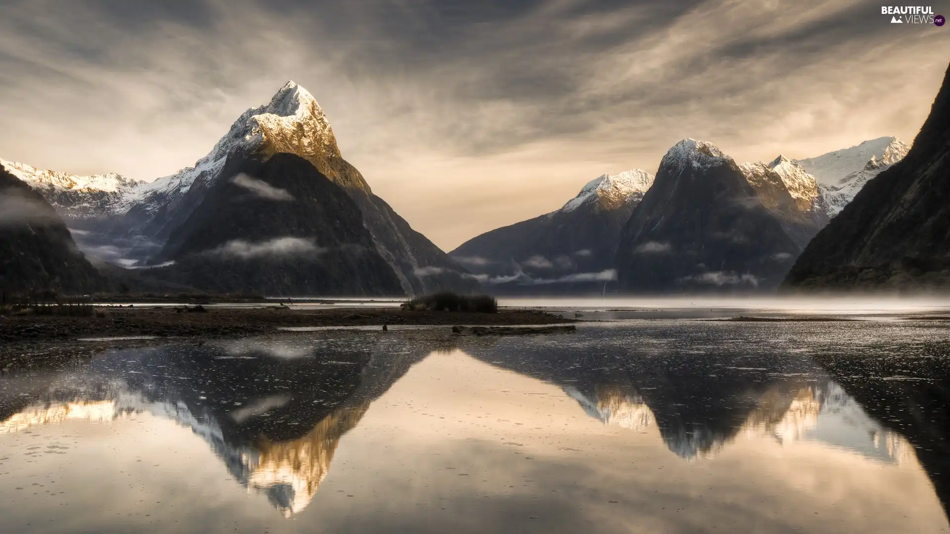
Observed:
[[[736,162],[684,139],[448,253],[347,162],[294,82],[155,181],[0,160],[0,288],[267,296],[926,290],[950,284],[947,81],[911,147]],[[913,238],[908,238],[913,236]],[[790,275],[789,275],[790,273]],[[783,285],[784,283],[784,285]]]

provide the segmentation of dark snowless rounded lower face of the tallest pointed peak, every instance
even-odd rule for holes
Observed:
[[[399,295],[363,214],[313,164],[233,150],[222,176],[172,230],[152,277],[261,295]]]

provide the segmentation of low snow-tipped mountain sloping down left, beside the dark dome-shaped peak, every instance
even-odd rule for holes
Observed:
[[[557,211],[471,238],[449,253],[493,292],[600,292],[616,279],[620,230],[653,176],[636,169],[587,182]]]

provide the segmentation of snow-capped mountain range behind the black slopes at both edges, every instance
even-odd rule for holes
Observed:
[[[195,166],[156,181],[5,160],[0,168],[65,221],[68,240],[57,240],[82,258],[66,262],[67,271],[78,269],[75,280],[86,279],[89,263],[76,256],[78,245],[93,263],[135,269],[149,287],[277,296],[469,293],[483,285],[506,295],[662,293],[774,289],[828,220],[907,153],[883,137],[805,160],[740,164],[687,139],[667,152],[656,179],[639,169],[604,174],[561,209],[449,254],[372,193],[343,159],[323,110],[294,82],[245,111]],[[44,261],[35,247],[19,246],[9,245],[10,254]],[[923,270],[942,266],[941,254],[928,253]],[[788,283],[827,270],[803,269]],[[73,279],[57,270],[23,283]],[[70,284],[96,287],[58,287]]]

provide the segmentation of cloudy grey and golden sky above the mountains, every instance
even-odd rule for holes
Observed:
[[[932,6],[950,14],[950,1]],[[373,192],[446,251],[651,173],[910,143],[950,25],[850,0],[3,0],[0,158],[151,181],[294,80]]]

